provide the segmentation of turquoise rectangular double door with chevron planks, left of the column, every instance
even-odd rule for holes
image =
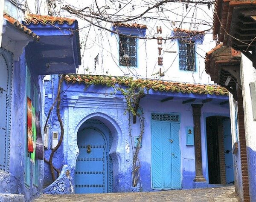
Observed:
[[[151,122],[153,189],[180,189],[179,130],[179,123]]]

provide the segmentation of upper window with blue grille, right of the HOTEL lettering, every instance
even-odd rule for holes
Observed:
[[[180,70],[196,71],[195,69],[195,42],[179,40]]]

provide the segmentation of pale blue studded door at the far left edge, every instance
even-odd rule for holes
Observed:
[[[0,171],[9,170],[12,54],[0,48]]]

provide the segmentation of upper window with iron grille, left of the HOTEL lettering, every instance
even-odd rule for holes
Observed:
[[[137,67],[137,40],[119,36],[119,65]]]

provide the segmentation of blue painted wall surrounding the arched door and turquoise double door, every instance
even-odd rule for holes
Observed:
[[[56,83],[57,81],[55,81],[54,88],[57,88]],[[51,85],[50,82],[46,83],[47,92],[52,88]],[[101,85],[85,86],[82,83],[67,84],[64,82],[61,93],[61,116],[64,122],[63,150],[60,150],[58,156],[56,155],[54,164],[57,166],[60,165],[59,162],[67,164],[71,169],[71,180],[74,183],[72,178],[74,177],[76,158],[79,154],[76,143],[77,131],[87,119],[99,119],[111,130],[113,135],[113,143],[110,151],[110,156],[113,160],[113,192],[125,192],[131,191],[133,139],[134,136],[140,134],[140,123],[139,121],[136,124],[131,123],[132,137],[130,137],[129,116],[128,114],[124,114],[126,109],[125,99],[118,92],[116,94],[112,94],[112,92],[113,89]],[[192,182],[195,176],[194,146],[186,145],[186,127],[193,126],[192,108],[190,105],[182,104],[182,100],[186,100],[186,98],[175,98],[168,102],[160,102],[160,92],[157,92],[157,94],[159,95],[147,95],[140,101],[145,117],[145,131],[139,154],[142,191],[154,191],[152,190],[151,182],[151,113],[155,112],[166,114],[180,113],[181,185],[184,189],[193,188]],[[186,96],[186,94],[182,96]],[[215,96],[215,98],[218,98],[218,96]],[[220,98],[223,99],[221,96]],[[202,108],[201,141],[203,174],[205,177],[207,177],[208,171],[207,148],[204,143],[206,142],[206,136],[204,134],[205,119],[203,114],[218,114],[219,112],[220,114],[229,116],[229,106],[219,105],[219,102],[221,100],[213,100],[212,102],[205,103]],[[50,108],[51,103],[45,103],[46,112]],[[58,127],[57,124],[54,123],[54,125]],[[60,131],[59,128],[58,131]],[[46,169],[45,176],[49,176],[49,171]]]

